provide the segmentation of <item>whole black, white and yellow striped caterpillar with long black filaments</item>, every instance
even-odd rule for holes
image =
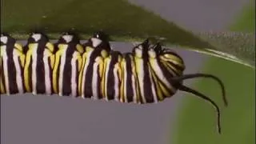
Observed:
[[[210,102],[206,95],[184,86],[189,78],[213,78],[222,89],[222,81],[211,74],[183,74],[182,58],[158,43],[148,40],[121,54],[110,47],[106,34],[94,34],[81,44],[74,34],[63,34],[56,43],[46,35],[34,33],[26,46],[8,34],[1,34],[1,94],[58,94],[118,102],[152,103],[170,98],[177,90],[186,91]]]

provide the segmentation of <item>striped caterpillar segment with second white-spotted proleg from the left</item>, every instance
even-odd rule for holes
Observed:
[[[31,34],[24,46],[26,62],[23,68],[26,92],[52,94],[54,45],[42,34]]]

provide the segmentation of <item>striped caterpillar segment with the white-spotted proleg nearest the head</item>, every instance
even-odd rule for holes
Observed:
[[[109,42],[100,36],[95,34],[83,45],[86,51],[82,54],[82,70],[79,74],[82,98],[103,98],[104,59],[109,56],[111,48]]]

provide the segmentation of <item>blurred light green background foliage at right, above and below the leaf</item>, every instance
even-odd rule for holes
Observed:
[[[255,7],[246,6],[233,31],[255,30]],[[210,58],[202,70],[218,75],[226,86],[229,106],[223,106],[216,82],[202,80],[194,88],[214,98],[221,106],[222,134],[218,135],[214,107],[189,95],[178,112],[177,127],[171,142],[178,144],[254,144],[255,143],[255,70],[220,58]]]

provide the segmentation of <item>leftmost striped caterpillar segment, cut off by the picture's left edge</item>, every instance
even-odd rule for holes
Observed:
[[[1,94],[25,92],[23,68],[25,54],[20,44],[8,34],[1,34]]]

